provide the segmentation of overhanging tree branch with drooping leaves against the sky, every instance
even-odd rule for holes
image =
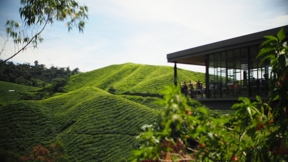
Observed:
[[[0,64],[26,50],[29,46],[37,48],[37,44],[43,41],[40,34],[47,25],[54,24],[54,21],[67,20],[65,25],[68,27],[68,31],[73,27],[78,27],[79,32],[83,33],[85,19],[88,19],[88,7],[79,6],[74,0],[21,0],[21,4],[24,5],[19,10],[23,24],[20,25],[14,20],[6,23],[6,32],[13,39],[15,53],[1,61]]]

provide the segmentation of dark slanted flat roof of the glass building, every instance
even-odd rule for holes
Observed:
[[[177,62],[177,63],[182,63],[182,64],[205,65],[206,54],[222,52],[222,51],[236,49],[240,47],[246,47],[250,45],[259,45],[264,42],[265,40],[264,35],[277,35],[278,31],[280,31],[281,28],[284,28],[284,31],[287,35],[288,25],[285,25],[285,26],[269,29],[266,31],[260,31],[257,33],[243,35],[240,37],[227,39],[224,41],[219,41],[219,42],[167,54],[167,60],[168,62]]]

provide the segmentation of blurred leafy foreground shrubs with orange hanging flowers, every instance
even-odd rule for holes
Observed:
[[[234,115],[215,117],[169,87],[158,123],[139,134],[137,161],[287,161],[288,48],[283,29],[261,46],[272,66],[269,103],[240,97]],[[275,85],[278,82],[278,85]],[[269,106],[278,102],[275,108]]]

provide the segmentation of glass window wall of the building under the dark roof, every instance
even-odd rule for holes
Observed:
[[[260,64],[258,50],[251,46],[210,54],[209,97],[267,96],[271,66]]]

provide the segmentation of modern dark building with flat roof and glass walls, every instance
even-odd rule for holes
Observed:
[[[206,106],[230,109],[240,96],[268,100],[270,62],[260,64],[265,56],[256,57],[266,40],[264,35],[276,36],[281,28],[287,40],[288,25],[167,54],[168,62],[175,63],[175,85],[176,64],[202,65],[206,67],[206,90],[205,97],[198,100]]]

